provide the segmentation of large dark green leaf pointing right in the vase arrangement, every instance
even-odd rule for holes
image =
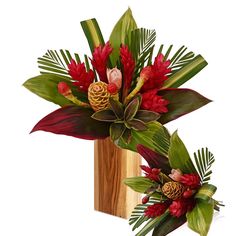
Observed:
[[[158,120],[162,124],[175,120],[211,102],[208,98],[191,89],[163,89],[158,92],[158,95],[169,101],[168,112]]]

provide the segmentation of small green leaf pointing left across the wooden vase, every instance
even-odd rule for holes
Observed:
[[[124,184],[129,186],[135,192],[145,193],[147,189],[153,186],[153,182],[146,177],[138,176],[132,178],[126,178]]]

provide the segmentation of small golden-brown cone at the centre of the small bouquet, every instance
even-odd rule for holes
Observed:
[[[165,183],[162,187],[163,194],[172,200],[181,198],[184,193],[184,190],[185,187],[182,184],[174,181]]]

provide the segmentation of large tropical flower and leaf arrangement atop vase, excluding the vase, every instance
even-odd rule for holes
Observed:
[[[32,132],[43,130],[94,140],[111,137],[121,148],[137,144],[168,150],[163,124],[192,112],[209,99],[178,88],[207,62],[201,55],[175,52],[160,45],[153,59],[155,30],[138,28],[128,9],[107,43],[95,19],[81,22],[92,57],[68,50],[48,50],[38,59],[41,75],[24,86],[62,108],[40,120]],[[160,142],[159,140],[166,140]]]

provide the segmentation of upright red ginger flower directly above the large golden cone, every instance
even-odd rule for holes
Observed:
[[[93,59],[91,63],[97,71],[99,78],[102,82],[107,83],[107,61],[112,52],[112,47],[109,42],[104,46],[100,45],[94,49]]]

